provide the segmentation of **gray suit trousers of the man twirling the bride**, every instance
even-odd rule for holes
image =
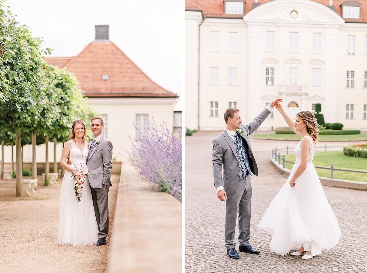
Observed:
[[[240,235],[238,241],[240,246],[250,244],[250,221],[251,221],[251,176],[246,175],[244,179],[238,179],[235,193],[227,195],[226,200],[226,225],[225,246],[227,249],[236,247],[235,230],[238,213],[238,229]]]

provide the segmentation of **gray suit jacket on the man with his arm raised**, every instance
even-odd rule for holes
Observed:
[[[262,112],[246,126],[241,124],[243,130],[242,138],[247,149],[248,161],[250,163],[251,172],[254,175],[258,175],[259,171],[257,164],[252,153],[251,143],[248,136],[259,128],[261,123],[270,114],[270,111],[265,108]],[[239,160],[235,145],[233,145],[232,139],[226,130],[219,136],[213,139],[212,149],[212,164],[213,164],[213,176],[214,187],[218,188],[223,186],[227,195],[233,194],[236,191],[237,183],[239,181],[238,175],[240,172]],[[222,178],[222,166],[223,166],[223,178]]]

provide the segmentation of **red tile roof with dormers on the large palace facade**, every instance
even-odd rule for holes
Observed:
[[[274,0],[258,0],[260,4],[265,4]],[[329,0],[314,0],[317,3],[323,4],[325,6],[329,5]],[[333,0],[333,6],[335,7],[335,12],[341,16],[341,4],[348,0]],[[367,0],[356,0],[356,2],[361,4],[361,18],[360,19],[349,19],[345,18],[346,22],[358,22],[367,23]],[[205,17],[209,18],[242,18],[249,11],[251,11],[252,3],[255,0],[245,1],[245,13],[242,15],[225,14],[224,12],[224,0],[185,0],[186,10],[198,10],[202,11]]]

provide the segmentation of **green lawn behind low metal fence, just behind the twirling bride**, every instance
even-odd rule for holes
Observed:
[[[295,154],[286,154],[285,159],[295,161]],[[281,159],[280,159],[281,163]],[[334,168],[356,171],[367,171],[367,159],[360,157],[346,156],[343,151],[317,152],[313,157],[313,164],[318,167],[329,167],[334,163]],[[286,168],[292,170],[293,164],[286,162]],[[319,176],[330,178],[330,170],[316,168]],[[367,174],[357,172],[334,171],[334,178],[352,181],[367,182]]]

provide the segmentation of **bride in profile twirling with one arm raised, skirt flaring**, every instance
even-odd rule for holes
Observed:
[[[309,111],[297,113],[292,120],[280,104],[276,105],[288,126],[301,141],[295,146],[296,162],[286,183],[270,203],[258,228],[272,234],[269,248],[279,255],[290,253],[311,259],[339,243],[341,230],[331,209],[319,176],[312,163],[319,130],[315,115]]]

